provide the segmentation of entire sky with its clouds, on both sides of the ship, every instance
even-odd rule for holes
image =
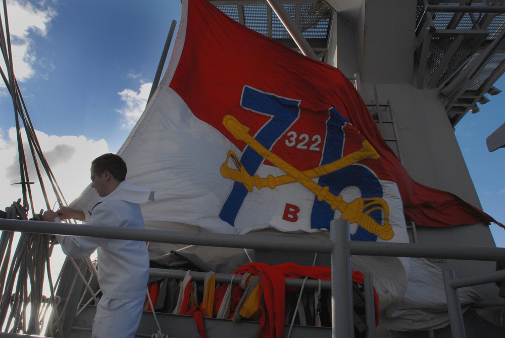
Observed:
[[[70,202],[89,183],[91,160],[118,151],[145,107],[171,22],[180,20],[180,1],[23,0],[9,1],[8,11],[15,74]],[[495,86],[505,90],[505,80]],[[505,149],[489,153],[485,142],[505,122],[505,93],[489,98],[479,113],[467,114],[456,126],[456,136],[484,211],[505,223]],[[0,112],[3,209],[20,197],[19,186],[10,185],[19,181],[19,169],[12,102],[4,88]],[[505,230],[494,224],[491,230],[497,245],[505,247]]]

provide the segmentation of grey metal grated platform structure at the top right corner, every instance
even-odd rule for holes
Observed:
[[[477,59],[480,54],[494,53],[491,43],[505,28],[503,2],[493,2],[496,11],[478,13],[460,11],[425,12],[424,5],[435,6],[491,6],[483,2],[443,2],[437,0],[418,0],[416,8],[418,50],[415,62],[419,63],[420,72],[431,77],[420,77],[418,85],[437,88],[441,93],[447,116],[452,125],[458,123],[468,110],[478,110],[477,104],[492,86],[493,81],[503,74],[505,52],[498,51],[487,60]],[[499,8],[501,7],[501,8]],[[432,24],[430,27],[429,22]],[[429,39],[429,40],[428,40]],[[428,47],[429,51],[423,51]],[[428,53],[426,53],[428,52]],[[426,55],[427,54],[427,55]],[[486,54],[488,55],[488,54]],[[469,68],[480,68],[477,75],[468,81]]]

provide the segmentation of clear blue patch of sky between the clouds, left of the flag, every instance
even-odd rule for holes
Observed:
[[[43,75],[25,81],[22,88],[33,123],[48,134],[105,138],[111,150],[118,150],[131,127],[122,127],[117,110],[127,107],[118,92],[138,92],[142,83],[153,81],[171,21],[179,21],[180,3],[91,0],[55,5],[57,15],[47,36],[34,36]]]

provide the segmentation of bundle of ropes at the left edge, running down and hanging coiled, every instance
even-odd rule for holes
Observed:
[[[22,126],[26,133],[28,148],[31,153],[38,182],[44,196],[46,208],[49,209],[49,199],[46,194],[41,168],[47,174],[56,200],[60,206],[66,201],[56,182],[55,176],[45,159],[35,129],[31,123],[28,110],[21,95],[21,91],[14,75],[7,2],[3,2],[3,17],[0,17],[0,52],[2,53],[5,68],[0,68],[0,76],[12,97],[14,117],[16,122],[16,135],[18,142],[18,156],[22,200],[6,208],[7,217],[10,219],[27,219],[29,206],[32,206],[32,219],[39,219],[34,213],[33,197],[31,194],[28,165],[23,146]],[[39,164],[40,163],[40,164]],[[22,201],[22,202],[21,202]],[[16,238],[13,232],[3,231],[0,236],[0,330],[13,333],[39,334],[43,318],[47,313],[47,303],[42,296],[44,269],[47,271],[49,286],[51,287],[51,304],[55,312],[56,325],[62,336],[61,324],[56,313],[56,298],[51,277],[49,257],[53,251],[52,236],[44,234],[21,233],[17,239],[17,246],[13,251]],[[44,303],[42,307],[41,304]],[[45,308],[45,309],[42,309]],[[29,311],[29,314],[28,314]],[[44,314],[42,314],[43,311]]]

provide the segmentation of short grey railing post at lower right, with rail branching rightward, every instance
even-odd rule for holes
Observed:
[[[458,289],[450,285],[451,280],[456,279],[454,270],[442,270],[442,276],[452,338],[466,338],[467,334],[465,332],[465,323],[463,322],[463,312],[461,311],[460,295]]]

